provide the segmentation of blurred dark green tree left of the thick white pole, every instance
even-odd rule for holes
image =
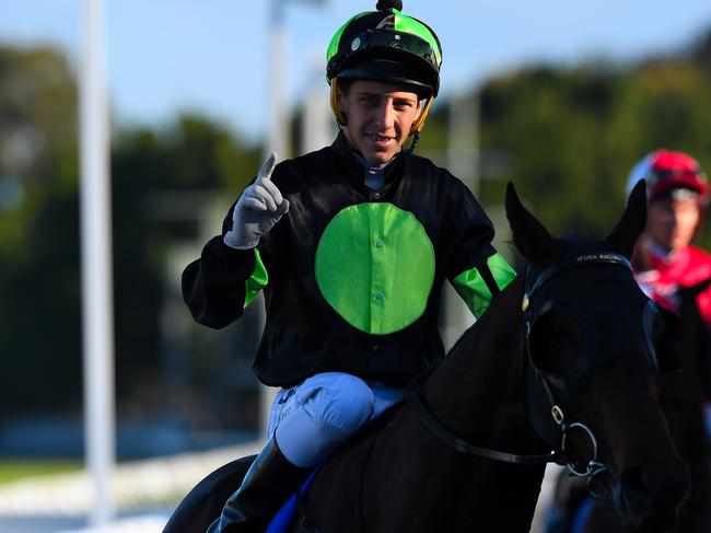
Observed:
[[[2,414],[81,394],[75,93],[58,53],[0,46]]]

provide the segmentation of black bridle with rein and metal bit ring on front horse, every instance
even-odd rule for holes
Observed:
[[[533,374],[536,378],[536,382],[540,385],[545,393],[545,397],[550,409],[550,417],[555,424],[555,427],[557,428],[555,444],[551,443],[551,439],[544,439],[549,443],[549,445],[551,445],[551,448],[553,448],[553,450],[543,454],[516,454],[498,450],[490,450],[466,442],[464,439],[461,439],[447,428],[445,428],[427,407],[421,395],[418,392],[419,387],[417,384],[421,384],[421,382],[424,381],[423,379],[420,379],[418,380],[420,383],[417,383],[416,386],[412,386],[410,389],[407,396],[407,403],[432,433],[434,433],[450,447],[454,448],[457,452],[464,454],[476,455],[513,464],[532,465],[555,463],[561,466],[566,466],[571,476],[585,478],[587,480],[588,488],[591,487],[593,479],[598,478],[598,476],[608,474],[609,471],[607,466],[602,463],[597,456],[598,444],[595,433],[588,426],[583,422],[566,421],[563,409],[560,403],[556,399],[556,395],[552,392],[550,379],[546,372],[539,370],[534,366],[528,345],[528,337],[531,335],[532,325],[536,318],[533,313],[532,304],[535,294],[551,278],[571,269],[591,265],[606,265],[617,268],[625,268],[631,273],[631,265],[629,259],[622,255],[608,252],[575,255],[572,258],[560,264],[552,265],[538,274],[534,274],[531,267],[528,267],[526,270],[525,292],[522,302],[522,311],[524,313],[524,351],[527,358],[528,368],[532,369]],[[533,383],[531,383],[531,379],[528,381],[528,386],[531,387]],[[582,432],[582,434],[584,434],[590,440],[590,443],[592,445],[592,457],[586,462],[584,468],[580,468],[579,464],[570,459],[568,445],[570,436],[573,432]],[[599,495],[593,494],[592,490],[591,496],[602,499]]]

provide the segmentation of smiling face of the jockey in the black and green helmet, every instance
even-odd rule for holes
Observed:
[[[356,80],[340,100],[348,142],[371,164],[388,162],[403,148],[421,111],[418,95],[380,81]]]

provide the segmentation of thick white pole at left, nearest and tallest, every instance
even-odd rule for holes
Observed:
[[[93,502],[89,522],[114,515],[114,325],[112,294],[108,106],[104,72],[104,0],[84,0],[81,67],[81,237],[84,343],[84,438]]]

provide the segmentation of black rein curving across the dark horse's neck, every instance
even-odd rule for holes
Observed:
[[[463,439],[458,438],[446,429],[442,424],[434,417],[434,415],[428,409],[428,407],[422,402],[420,394],[410,390],[407,395],[407,403],[412,407],[415,413],[418,415],[420,420],[427,426],[427,428],[432,431],[436,437],[442,441],[454,448],[459,453],[466,453],[469,455],[478,455],[480,457],[491,459],[494,461],[503,461],[505,463],[514,464],[547,464],[556,463],[564,465],[568,463],[566,455],[556,450],[549,453],[534,454],[534,455],[520,455],[509,452],[500,452],[497,450],[488,450],[486,448],[479,448],[477,445],[470,444]]]

